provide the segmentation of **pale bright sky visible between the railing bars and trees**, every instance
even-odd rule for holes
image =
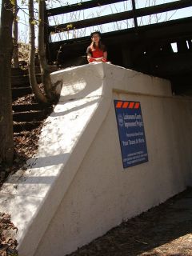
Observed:
[[[21,5],[22,0],[18,0],[18,4],[24,7],[23,10],[19,10],[18,12],[18,23],[19,23],[19,34],[18,34],[18,40],[22,42],[28,41],[28,15],[27,13],[27,6]],[[86,2],[87,0],[50,0],[50,6],[52,7],[58,7],[58,6],[66,6],[67,4],[74,4],[79,2]],[[143,8],[145,6],[154,6],[166,2],[174,2],[176,0],[135,0],[136,2],[136,8]],[[179,0],[178,0],[179,1]],[[27,0],[28,2],[28,0]],[[2,0],[0,0],[0,5],[2,3]],[[51,17],[49,19],[50,25],[55,25],[59,23],[68,23],[68,22],[74,22],[78,20],[83,20],[86,18],[94,18],[99,17],[107,14],[115,14],[118,12],[122,12],[125,10],[131,10],[131,0],[118,2],[115,4],[110,4],[107,6],[98,6],[95,8],[91,8],[89,10],[80,10],[76,11],[74,13],[70,14],[62,14],[57,15],[54,17]],[[177,10],[177,11],[170,11],[162,14],[157,15],[150,15],[145,16],[142,18],[138,18],[138,26],[143,26],[146,24],[156,23],[156,22],[164,22],[166,20],[172,20],[176,18],[184,18],[184,17],[190,17],[192,15],[192,7],[188,7],[185,9]],[[59,33],[59,34],[53,34],[51,35],[52,41],[59,41],[59,40],[66,40],[70,38],[78,38],[82,36],[89,35],[91,32],[95,30],[100,30],[102,33],[111,31],[111,30],[122,30],[126,28],[130,28],[134,26],[133,19],[129,19],[122,22],[112,22],[108,23],[102,26],[93,26],[90,28],[85,28],[82,30],[73,30],[69,33]]]

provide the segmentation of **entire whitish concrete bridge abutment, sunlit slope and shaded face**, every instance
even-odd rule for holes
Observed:
[[[191,185],[191,98],[106,63],[52,74],[61,97],[38,154],[4,184],[22,256],[60,256]],[[149,161],[123,169],[114,99],[140,102]]]

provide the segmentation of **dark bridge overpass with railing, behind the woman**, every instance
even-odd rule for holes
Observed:
[[[62,66],[85,64],[86,47],[90,44],[89,36],[53,42],[51,34],[61,34],[132,18],[134,20],[133,27],[102,34],[102,41],[107,46],[110,62],[144,74],[168,78],[171,81],[174,94],[192,94],[192,17],[166,20],[145,26],[138,25],[138,18],[146,17],[146,15],[157,15],[171,10],[185,10],[184,8],[192,6],[191,0],[167,2],[145,8],[136,8],[135,0],[131,0],[132,9],[120,13],[55,26],[50,26],[48,22],[50,17],[80,10],[91,10],[96,6],[106,6],[118,2],[123,1],[93,0],[46,10],[45,38],[49,62],[56,62]],[[174,52],[171,43],[177,45],[177,52]]]

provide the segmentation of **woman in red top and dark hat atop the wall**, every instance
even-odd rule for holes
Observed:
[[[106,46],[102,44],[101,33],[96,31],[90,34],[91,44],[87,47],[86,54],[88,62],[107,62]]]

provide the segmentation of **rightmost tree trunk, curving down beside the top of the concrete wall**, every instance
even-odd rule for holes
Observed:
[[[45,88],[46,96],[53,102],[56,98],[54,88],[50,80],[50,71],[46,62],[46,49],[44,42],[44,15],[45,15],[45,0],[38,1],[38,56],[41,66],[42,83]]]

